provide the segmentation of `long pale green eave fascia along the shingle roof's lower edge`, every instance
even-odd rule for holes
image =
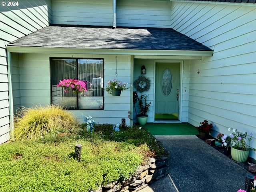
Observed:
[[[136,50],[136,49],[90,49],[7,46],[14,53],[66,53],[66,54],[107,54],[107,55],[158,55],[158,56],[212,56],[213,51],[202,50]]]

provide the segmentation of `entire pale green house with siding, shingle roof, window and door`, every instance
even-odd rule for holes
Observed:
[[[120,97],[104,88],[116,72],[133,85],[143,65],[151,80],[142,93],[152,102],[148,122],[175,108],[170,113],[180,122],[212,122],[213,136],[229,127],[256,134],[255,3],[43,0],[1,6],[0,143],[10,138],[16,109],[34,104],[65,102],[76,106],[80,120],[83,113],[99,123],[125,118],[132,125],[135,88]],[[163,74],[172,77],[166,95]],[[56,82],[67,75],[90,78],[92,89],[82,97],[64,95]],[[170,94],[172,100],[162,99]]]

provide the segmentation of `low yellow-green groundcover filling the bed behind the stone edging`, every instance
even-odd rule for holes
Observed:
[[[142,163],[138,149],[124,142],[47,137],[0,145],[0,192],[88,192],[129,178]],[[80,162],[72,156],[76,143]]]

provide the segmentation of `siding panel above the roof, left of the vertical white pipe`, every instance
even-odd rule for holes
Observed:
[[[112,0],[53,0],[52,20],[53,24],[112,26]]]

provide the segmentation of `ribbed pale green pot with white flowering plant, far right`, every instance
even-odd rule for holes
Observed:
[[[230,134],[231,138],[231,157],[234,161],[239,163],[244,163],[247,161],[250,151],[250,142],[252,140],[252,133],[248,138],[247,132],[241,133],[233,128],[228,128],[229,131],[232,131]],[[249,145],[246,144],[246,140],[248,140]]]

